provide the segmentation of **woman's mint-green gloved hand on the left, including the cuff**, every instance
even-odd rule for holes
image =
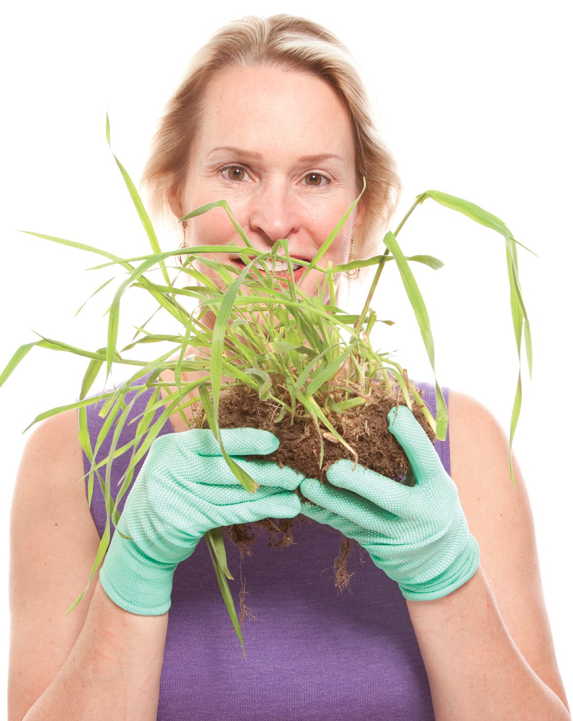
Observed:
[[[190,557],[207,531],[262,518],[294,518],[293,490],[303,474],[288,466],[237,456],[267,455],[279,441],[267,430],[221,430],[223,446],[260,487],[249,493],[221,455],[213,432],[197,428],[156,438],[149,448],[99,573],[114,603],[156,616],[171,606],[177,564]]]

